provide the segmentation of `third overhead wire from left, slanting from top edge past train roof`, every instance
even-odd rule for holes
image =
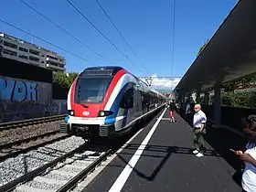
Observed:
[[[78,9],[78,7],[76,7],[75,5],[73,5],[69,0],[66,0],[66,1],[69,3],[69,5],[71,5],[71,6],[80,14],[80,16],[82,16],[88,23],[90,23],[91,26],[94,27],[94,28],[101,34],[102,37],[104,37],[118,52],[120,52],[120,53],[123,55],[123,57],[124,57],[125,59],[127,59],[136,69],[138,69],[137,66],[133,63],[133,61],[132,61],[131,59],[129,59],[128,56],[126,56],[120,48],[117,48],[117,47],[114,45],[114,43],[112,43],[112,41],[111,41],[108,37],[106,37],[106,36],[101,32],[101,30],[100,30],[98,27],[96,27],[96,26],[91,22],[91,20],[90,20],[87,16],[84,16],[84,14],[82,14],[82,13],[80,12],[80,10]],[[144,72],[143,72],[141,69],[138,69],[138,70],[144,74]]]

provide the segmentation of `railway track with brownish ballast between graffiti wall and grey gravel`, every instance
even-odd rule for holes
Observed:
[[[48,116],[11,123],[0,123],[0,162],[44,144],[66,138],[59,133],[65,115]]]

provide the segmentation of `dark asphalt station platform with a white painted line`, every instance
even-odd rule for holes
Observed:
[[[235,179],[239,163],[227,160],[229,144],[224,144],[231,133],[210,129],[208,150],[197,157],[192,154],[191,127],[178,114],[175,117],[176,123],[169,123],[168,111],[159,112],[83,191],[240,192],[240,181]]]

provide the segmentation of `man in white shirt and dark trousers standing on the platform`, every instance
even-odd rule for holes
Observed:
[[[193,120],[193,139],[195,150],[193,151],[193,154],[197,155],[197,157],[201,157],[204,156],[203,153],[206,149],[204,146],[204,134],[206,133],[207,116],[205,112],[202,112],[200,104],[196,104],[194,110],[195,114]]]

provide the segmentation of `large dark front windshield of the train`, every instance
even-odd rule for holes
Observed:
[[[111,81],[111,77],[79,78],[76,83],[76,103],[101,103]]]

